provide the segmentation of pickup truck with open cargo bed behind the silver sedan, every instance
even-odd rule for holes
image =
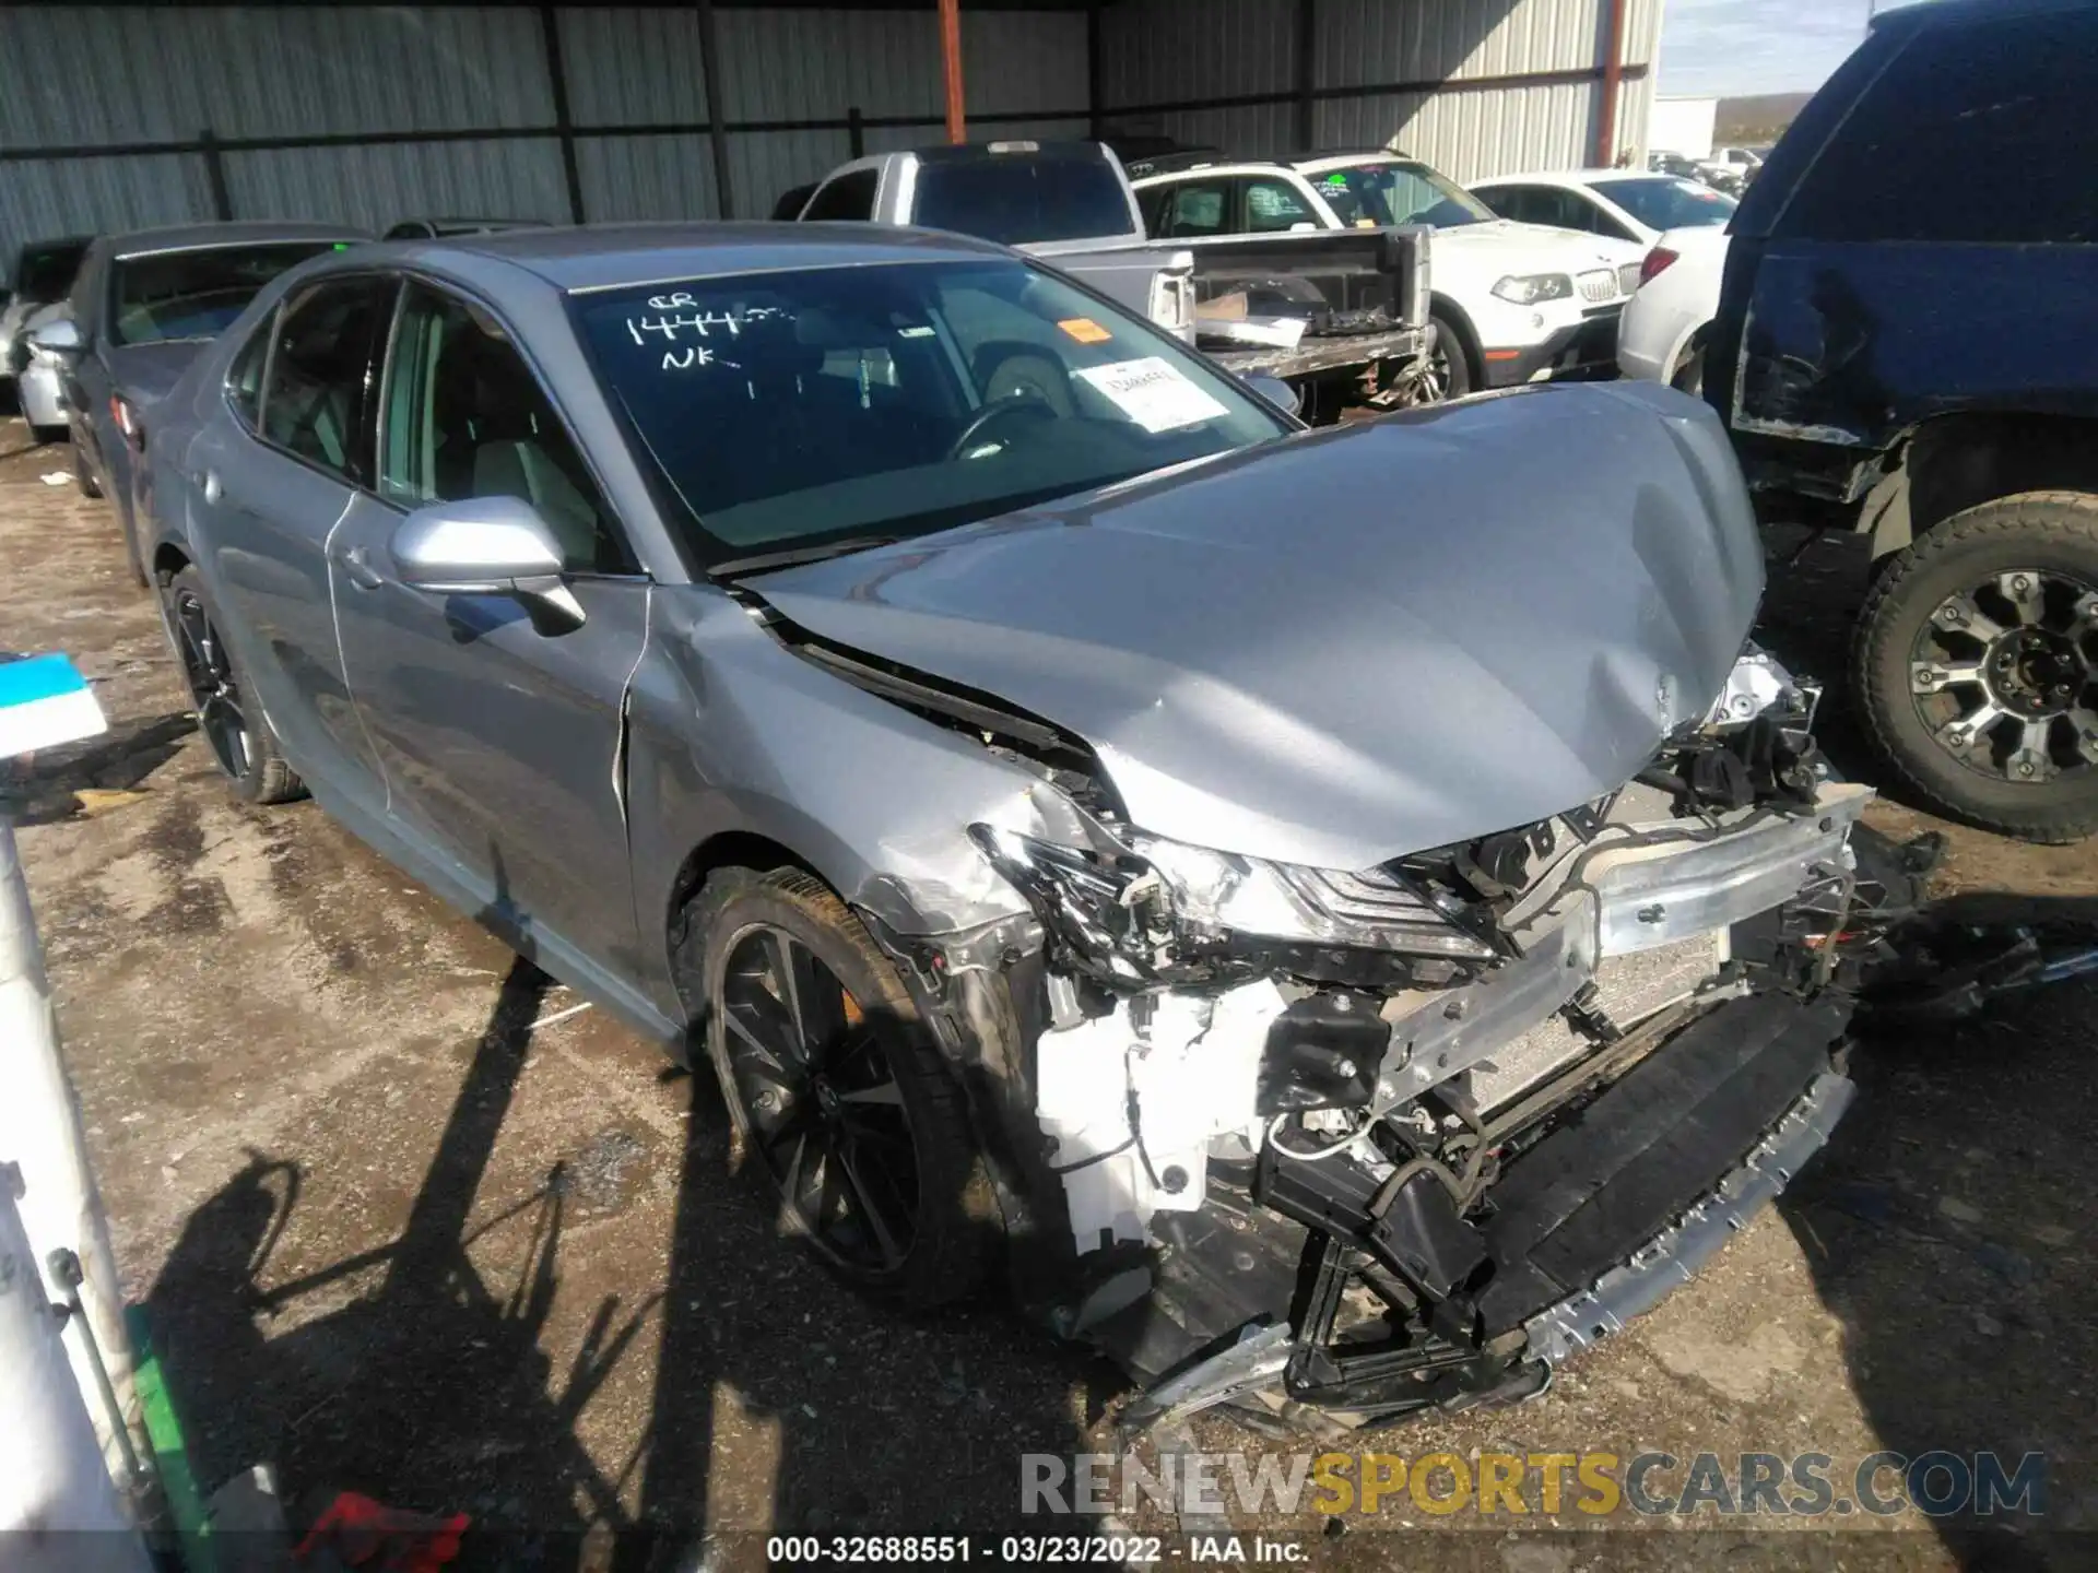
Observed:
[[[950,229],[1011,245],[1200,344],[1229,371],[1288,382],[1301,401],[1311,388],[1418,382],[1427,365],[1425,231],[1158,243],[1146,239],[1129,176],[1101,143],[875,153],[831,170],[795,216]],[[1261,317],[1246,300],[1280,304]],[[1211,331],[1217,302],[1238,304],[1236,331]]]

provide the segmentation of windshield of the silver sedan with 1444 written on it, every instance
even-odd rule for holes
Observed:
[[[692,279],[577,296],[575,313],[709,566],[921,535],[1288,430],[1022,262]]]

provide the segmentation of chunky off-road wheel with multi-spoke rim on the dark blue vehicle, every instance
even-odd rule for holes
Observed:
[[[2022,493],[1932,526],[1874,585],[1853,673],[1928,807],[2025,841],[2098,831],[2098,497]]]

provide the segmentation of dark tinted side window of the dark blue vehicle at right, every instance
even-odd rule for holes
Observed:
[[[2098,241],[2098,10],[1924,21],[1815,157],[1773,235]]]

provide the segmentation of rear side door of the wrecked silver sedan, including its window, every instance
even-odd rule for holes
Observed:
[[[185,455],[189,539],[292,766],[323,797],[378,810],[350,707],[327,539],[371,499],[371,388],[399,279],[355,273],[290,296],[233,354]]]

